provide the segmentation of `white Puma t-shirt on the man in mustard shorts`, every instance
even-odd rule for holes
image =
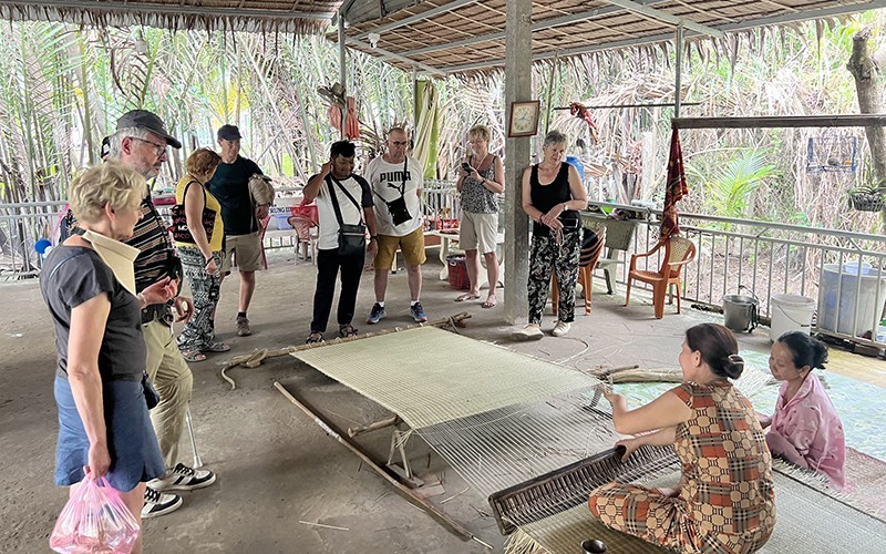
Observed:
[[[404,166],[405,175],[403,174]],[[391,164],[385,162],[382,156],[378,156],[367,165],[365,175],[377,199],[375,225],[379,235],[403,237],[424,225],[420,196],[424,184],[424,170],[421,162],[408,156],[405,163]],[[385,203],[395,201],[401,195],[412,219],[394,225],[391,211]]]

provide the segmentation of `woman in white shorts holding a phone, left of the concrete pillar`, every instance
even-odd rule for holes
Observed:
[[[480,256],[486,261],[490,294],[484,308],[496,304],[498,285],[498,195],[505,192],[505,170],[502,158],[490,153],[490,130],[475,125],[467,132],[471,155],[462,162],[455,188],[462,194],[462,220],[459,226],[459,246],[464,249],[467,278],[471,288],[455,298],[456,302],[480,298]],[[470,168],[470,171],[466,170]]]

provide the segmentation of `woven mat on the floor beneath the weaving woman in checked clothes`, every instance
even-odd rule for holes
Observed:
[[[800,552],[883,552],[886,523],[838,502],[781,472],[775,472],[777,523],[762,554]],[[511,554],[574,554],[588,538],[605,542],[612,554],[668,552],[639,538],[611,531],[579,505],[524,525],[508,540]]]

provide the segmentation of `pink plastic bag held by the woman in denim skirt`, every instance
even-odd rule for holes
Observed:
[[[59,514],[50,547],[65,554],[130,554],[138,523],[104,478],[83,480]]]

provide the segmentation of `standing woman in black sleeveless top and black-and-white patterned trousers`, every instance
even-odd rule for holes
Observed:
[[[588,197],[578,171],[562,161],[566,153],[563,133],[549,132],[542,152],[542,162],[523,172],[523,211],[535,223],[529,250],[529,322],[515,334],[517,339],[543,337],[542,311],[552,270],[556,271],[560,291],[559,320],[552,334],[566,335],[575,319],[575,284],[581,250],[578,211],[587,208]]]

